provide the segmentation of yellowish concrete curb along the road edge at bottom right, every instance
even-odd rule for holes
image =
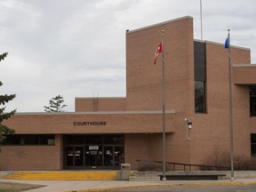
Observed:
[[[136,189],[136,188],[168,188],[168,187],[193,187],[193,186],[242,186],[242,185],[253,185],[256,181],[245,181],[245,182],[197,182],[197,183],[163,183],[156,185],[131,185],[131,186],[118,186],[118,187],[107,187],[107,188],[88,188],[82,190],[72,190],[63,192],[98,192],[98,191],[111,191],[111,190],[122,190],[122,189]]]

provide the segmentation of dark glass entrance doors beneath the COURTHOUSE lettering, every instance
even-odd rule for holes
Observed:
[[[120,169],[124,135],[64,135],[64,169]]]

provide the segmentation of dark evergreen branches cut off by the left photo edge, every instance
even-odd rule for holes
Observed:
[[[4,60],[4,58],[7,56],[8,52],[4,52],[3,54],[0,54],[0,61]],[[2,86],[2,82],[0,82],[0,86]],[[4,105],[9,101],[9,100],[13,100],[16,97],[15,94],[4,94],[4,95],[0,95],[0,143],[3,142],[3,140],[5,139],[4,135],[8,135],[8,134],[12,134],[14,133],[14,130],[7,127],[6,125],[3,124],[4,120],[7,120],[8,118],[10,118],[11,116],[13,116],[16,112],[15,110],[12,110],[9,113],[4,113],[5,111],[5,107]]]

